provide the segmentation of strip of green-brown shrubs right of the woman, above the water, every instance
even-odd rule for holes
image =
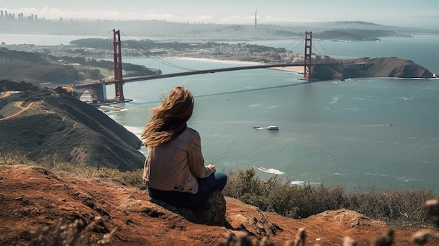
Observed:
[[[306,218],[345,208],[396,226],[430,224],[423,204],[439,198],[431,190],[346,192],[341,186],[292,186],[290,180],[277,175],[263,181],[253,168],[229,172],[223,193],[285,217]]]

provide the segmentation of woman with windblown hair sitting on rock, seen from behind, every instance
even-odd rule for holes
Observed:
[[[194,206],[227,182],[226,174],[204,164],[200,135],[187,127],[193,109],[191,92],[177,86],[152,110],[142,133],[148,149],[142,177],[149,196],[176,207]]]

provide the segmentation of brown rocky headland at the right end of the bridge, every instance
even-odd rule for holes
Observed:
[[[311,77],[318,80],[345,78],[435,78],[426,68],[398,57],[362,57],[337,60],[335,64],[316,64]]]

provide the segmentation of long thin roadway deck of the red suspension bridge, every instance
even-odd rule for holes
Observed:
[[[254,66],[241,66],[241,67],[224,67],[220,69],[207,69],[207,70],[194,70],[194,71],[183,71],[180,73],[172,73],[172,74],[158,74],[158,75],[147,75],[147,76],[137,76],[137,77],[130,77],[130,78],[123,78],[123,83],[128,82],[135,82],[135,81],[147,81],[150,79],[157,79],[157,78],[171,78],[171,77],[177,77],[177,76],[188,76],[188,75],[196,75],[196,74],[214,74],[220,71],[237,71],[237,70],[246,70],[246,69],[264,69],[264,68],[271,68],[271,67],[304,67],[306,66],[304,63],[291,63],[291,64],[266,64],[266,65],[254,65]],[[312,66],[312,64],[311,64]],[[112,85],[116,82],[116,80],[109,80],[104,81],[106,85]],[[79,83],[76,84],[76,88],[84,88],[87,86],[92,86],[97,82],[91,82],[91,83]],[[100,82],[102,83],[102,82]]]

